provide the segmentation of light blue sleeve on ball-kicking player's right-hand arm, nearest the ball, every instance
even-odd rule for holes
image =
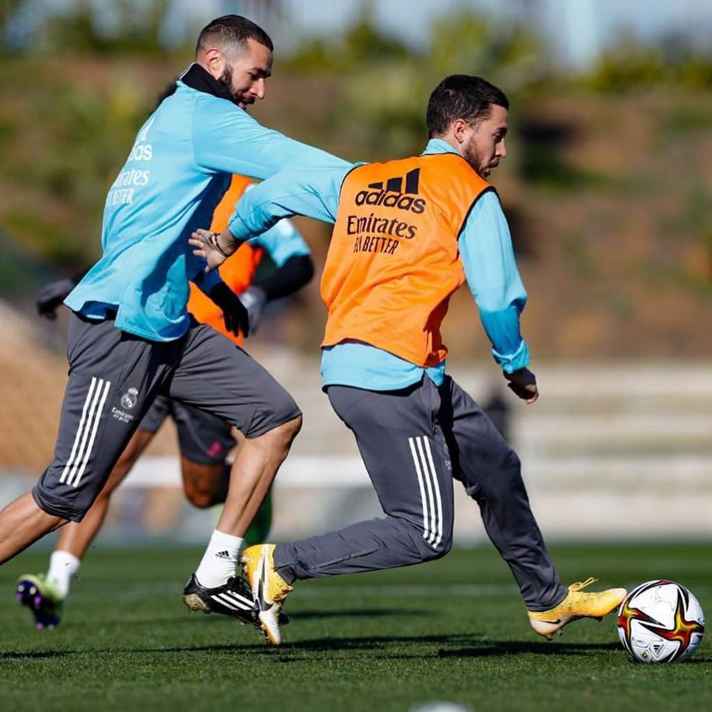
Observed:
[[[492,355],[508,373],[529,363],[519,330],[527,293],[517,270],[509,226],[497,194],[482,194],[471,210],[458,245],[470,291]]]

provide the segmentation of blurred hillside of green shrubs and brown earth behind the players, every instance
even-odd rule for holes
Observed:
[[[0,28],[21,6],[0,5]],[[157,41],[167,6],[147,1],[137,12],[119,0],[111,33],[80,3],[38,21],[24,45],[0,34],[4,256],[12,244],[67,274],[98,256],[108,187],[157,95],[192,58],[193,37],[171,50]],[[525,314],[541,334],[535,346],[554,355],[645,352],[655,323],[708,354],[712,337],[697,329],[687,339],[681,315],[699,322],[712,300],[712,53],[679,36],[622,35],[595,66],[572,74],[530,26],[457,11],[414,49],[379,28],[365,4],[344,33],[305,38],[290,56],[278,51],[268,101],[254,112],[349,159],[384,160],[422,150],[427,98],[449,73],[483,75],[511,100],[509,157],[495,181],[541,305]],[[311,236],[323,249],[328,231]],[[0,295],[36,286],[19,270],[2,276]],[[557,311],[562,321],[548,325]],[[457,319],[454,309],[449,340],[473,347],[480,337]],[[614,336],[617,328],[629,337]]]

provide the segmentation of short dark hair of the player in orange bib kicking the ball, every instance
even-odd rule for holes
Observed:
[[[481,77],[451,74],[434,88],[428,100],[429,138],[446,134],[456,119],[470,124],[486,119],[493,104],[509,108],[509,100],[501,89]]]

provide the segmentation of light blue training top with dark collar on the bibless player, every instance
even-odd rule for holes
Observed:
[[[196,74],[214,92],[186,83]],[[150,340],[181,337],[188,282],[207,293],[219,281],[216,272],[205,275],[188,237],[210,224],[231,174],[264,179],[287,167],[347,167],[263,127],[220,90],[193,65],[142,126],[106,199],[103,255],[65,300],[70,309],[96,319],[115,313],[117,328]]]

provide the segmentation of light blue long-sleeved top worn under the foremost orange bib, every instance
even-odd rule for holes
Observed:
[[[424,154],[456,153],[447,142],[431,139]],[[229,229],[237,239],[250,239],[273,221],[294,214],[333,223],[342,182],[355,164],[320,169],[308,175],[282,172],[253,189],[239,202]],[[492,342],[492,355],[506,372],[525,367],[529,350],[520,334],[519,315],[527,295],[520,279],[509,227],[497,194],[488,191],[473,206],[458,241],[468,286],[481,322]],[[323,350],[324,386],[346,385],[393,390],[422,379],[444,379],[445,362],[431,368],[408,362],[362,343],[341,343]]]

